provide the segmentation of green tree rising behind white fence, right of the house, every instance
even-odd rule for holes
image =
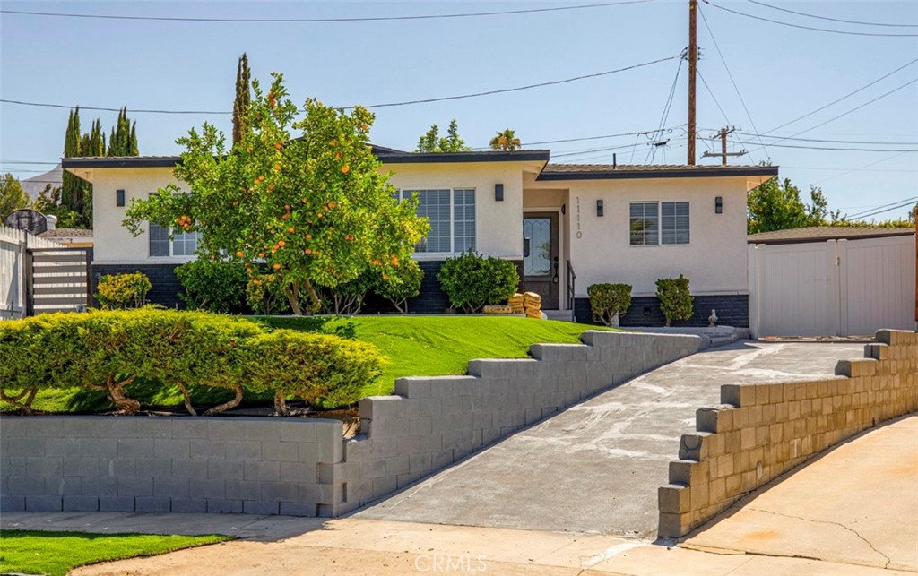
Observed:
[[[746,196],[746,228],[749,234],[808,226],[826,226],[838,219],[831,213],[822,189],[810,186],[810,203],[789,178],[772,178]]]

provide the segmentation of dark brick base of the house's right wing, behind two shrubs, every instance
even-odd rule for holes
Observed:
[[[749,296],[746,294],[713,294],[695,296],[691,319],[673,322],[674,327],[706,327],[711,309],[717,310],[717,324],[721,326],[749,327]],[[577,298],[574,310],[577,322],[594,324],[589,308],[589,298]],[[647,314],[649,312],[649,314]],[[656,296],[632,298],[628,314],[619,319],[621,327],[658,327],[666,325]]]

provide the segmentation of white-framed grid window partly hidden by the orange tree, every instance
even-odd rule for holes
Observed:
[[[475,249],[475,189],[401,190],[401,200],[418,194],[418,216],[427,217],[431,231],[418,252],[456,253]]]

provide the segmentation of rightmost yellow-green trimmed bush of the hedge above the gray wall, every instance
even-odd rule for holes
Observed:
[[[277,414],[295,395],[323,407],[353,404],[380,374],[376,349],[336,336],[275,330],[248,343],[246,378],[255,391],[274,392]]]

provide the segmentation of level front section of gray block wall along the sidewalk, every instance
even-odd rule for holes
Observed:
[[[0,418],[0,510],[330,515],[340,420]]]

